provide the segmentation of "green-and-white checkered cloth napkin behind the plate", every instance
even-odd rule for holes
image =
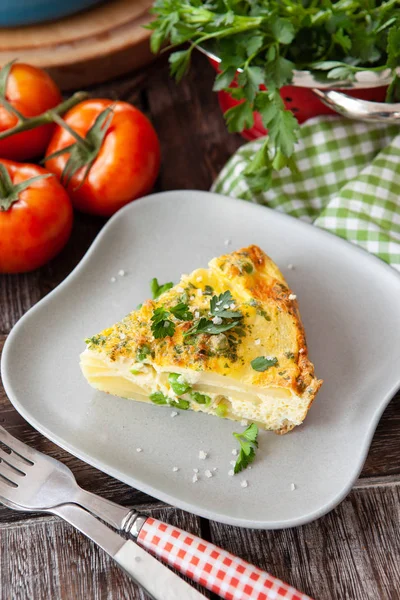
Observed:
[[[232,156],[213,191],[265,204],[365,248],[400,271],[400,128],[337,117],[301,127],[299,173],[274,174],[270,190],[253,194],[243,171],[262,140]]]

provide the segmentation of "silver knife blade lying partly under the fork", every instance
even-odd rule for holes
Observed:
[[[131,540],[125,540],[85,509],[64,504],[51,509],[113,558],[153,600],[201,600],[205,596]]]

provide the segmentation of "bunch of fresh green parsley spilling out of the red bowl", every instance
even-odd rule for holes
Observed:
[[[390,68],[387,99],[400,98],[400,0],[156,0],[153,12],[154,52],[167,41],[173,47],[189,42],[170,55],[178,80],[199,45],[212,44],[221,59],[214,90],[227,89],[241,70],[240,87],[229,89],[241,103],[225,118],[229,131],[242,131],[252,127],[256,110],[268,129],[245,172],[255,192],[270,187],[274,170],[296,169],[298,123],[279,93],[294,69],[343,82],[360,70]]]

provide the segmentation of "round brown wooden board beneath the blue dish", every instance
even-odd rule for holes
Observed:
[[[77,89],[100,83],[152,60],[152,0],[108,0],[50,23],[0,28],[0,66],[10,60],[43,67],[59,86]]]

